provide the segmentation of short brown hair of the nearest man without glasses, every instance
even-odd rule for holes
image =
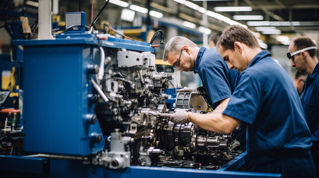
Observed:
[[[243,43],[251,48],[259,47],[254,34],[247,28],[239,25],[231,25],[226,28],[223,31],[217,46],[221,45],[225,50],[233,50],[235,48],[235,42]]]

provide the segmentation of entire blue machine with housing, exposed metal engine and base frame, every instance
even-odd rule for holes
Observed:
[[[156,71],[154,45],[68,29],[52,40],[14,41],[23,46],[23,108],[19,127],[1,130],[5,143],[14,143],[10,155],[16,156],[0,155],[1,168],[19,172],[14,168],[20,166],[51,177],[130,177],[152,170],[160,177],[166,171],[171,176],[195,173],[177,168],[227,170],[234,158],[237,168],[245,163],[247,153],[240,155],[234,135],[193,123],[175,125],[159,116],[174,112],[166,107],[164,92],[173,76]],[[179,92],[175,107],[205,112],[203,94],[203,89]],[[23,146],[16,143],[22,140]],[[228,174],[234,175],[256,176]]]

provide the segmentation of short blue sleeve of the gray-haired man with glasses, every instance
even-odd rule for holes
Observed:
[[[200,69],[199,76],[213,104],[231,96],[228,74],[225,74],[223,68],[204,67]]]

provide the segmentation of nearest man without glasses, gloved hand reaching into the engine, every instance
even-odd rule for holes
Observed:
[[[311,134],[298,93],[287,72],[262,51],[246,28],[232,25],[217,44],[230,69],[241,72],[237,87],[222,113],[198,114],[178,110],[208,131],[231,133],[247,123],[247,151],[253,163],[250,171],[280,173],[282,178],[314,178],[310,154]],[[181,117],[179,118],[181,120]]]

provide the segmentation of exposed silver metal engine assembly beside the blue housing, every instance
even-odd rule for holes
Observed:
[[[95,113],[103,134],[111,134],[111,139],[105,151],[93,156],[93,164],[112,169],[130,165],[197,168],[214,160],[218,167],[220,160],[236,156],[230,135],[203,131],[192,123],[174,125],[159,116],[170,112],[164,90],[172,76],[156,71],[154,54],[125,49],[107,53],[103,80],[97,82],[103,93],[95,95]],[[176,108],[207,111],[200,93],[205,92],[179,92]]]

